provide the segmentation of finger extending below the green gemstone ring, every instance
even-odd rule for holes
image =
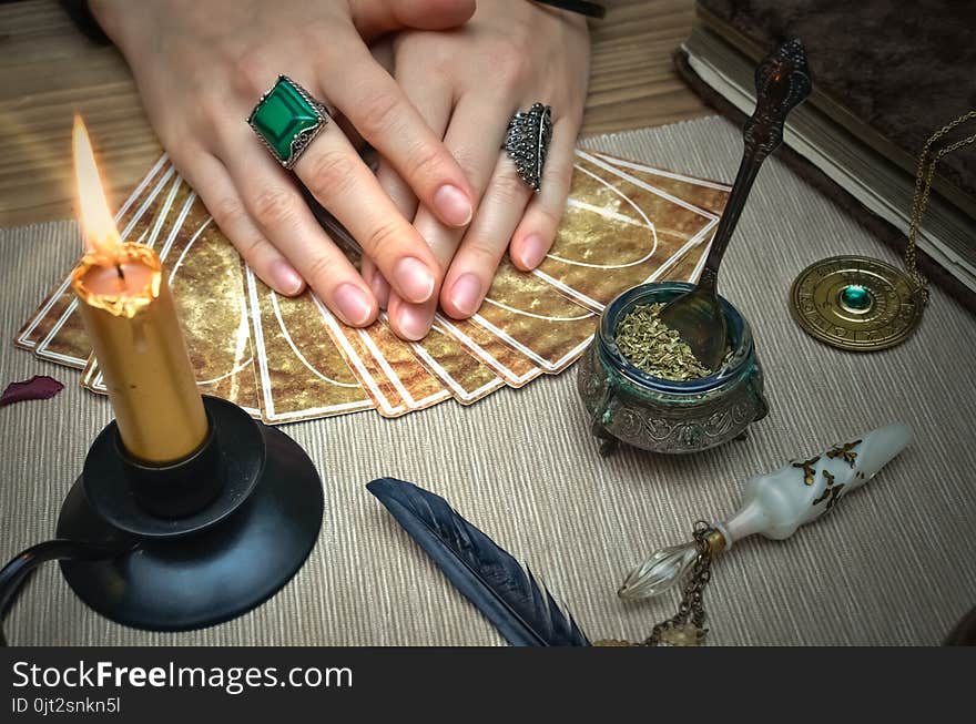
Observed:
[[[398,294],[410,302],[426,302],[434,295],[440,269],[430,249],[339,129],[327,125],[295,163],[294,171]]]

